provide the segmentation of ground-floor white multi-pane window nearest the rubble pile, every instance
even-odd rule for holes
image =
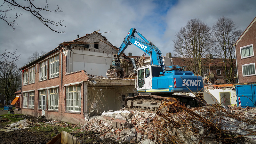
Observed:
[[[66,111],[81,111],[81,85],[66,87]]]

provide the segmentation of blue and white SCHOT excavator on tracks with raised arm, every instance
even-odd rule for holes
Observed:
[[[140,37],[136,37],[135,33]],[[137,68],[134,59],[131,59],[134,73],[136,73],[136,89],[140,95],[127,97],[124,101],[126,108],[156,110],[161,104],[160,101],[169,97],[177,98],[190,107],[204,104],[204,100],[199,97],[173,94],[176,92],[204,92],[202,76],[195,76],[191,71],[184,71],[184,66],[166,67],[160,50],[135,28],[130,29],[117,54],[114,55],[112,67],[107,71],[108,78],[124,78],[126,76],[121,68],[119,57],[131,44],[149,55],[150,65]],[[143,95],[143,93],[147,95]]]

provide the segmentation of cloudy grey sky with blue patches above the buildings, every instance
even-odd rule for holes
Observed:
[[[46,4],[43,0],[36,2],[40,6]],[[51,31],[19,8],[7,13],[10,17],[23,14],[16,20],[15,31],[0,20],[0,53],[17,50],[20,67],[35,51],[49,52],[64,41],[76,39],[78,34],[81,37],[95,30],[100,30],[110,43],[119,47],[130,28],[136,28],[165,55],[173,52],[175,33],[190,19],[199,18],[212,27],[218,18],[225,16],[244,31],[256,16],[255,0],[48,0],[48,4],[52,9],[58,5],[62,12],[42,14],[51,20],[64,20],[62,24],[67,27],[53,28],[65,34]],[[129,52],[133,56],[143,54],[134,46],[124,51]]]

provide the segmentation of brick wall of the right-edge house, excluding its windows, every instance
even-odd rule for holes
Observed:
[[[253,44],[254,56],[250,58],[241,59],[240,47]],[[236,59],[239,83],[256,82],[256,76],[244,76],[242,73],[242,65],[255,63],[256,65],[256,22],[254,22],[250,29],[245,33],[241,40],[236,44]]]

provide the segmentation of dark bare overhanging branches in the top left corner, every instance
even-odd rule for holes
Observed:
[[[17,18],[22,15],[22,13],[18,14],[16,13],[15,16],[9,17],[8,12],[15,11],[16,8],[20,8],[24,11],[30,12],[33,16],[35,16],[38,20],[40,20],[46,27],[50,28],[52,31],[57,33],[65,33],[65,31],[59,31],[57,29],[52,29],[53,26],[64,26],[61,23],[63,20],[53,21],[49,20],[47,16],[43,15],[43,12],[62,12],[59,6],[57,5],[56,9],[49,9],[49,4],[46,0],[46,6],[37,6],[34,2],[34,0],[3,0],[3,3],[0,1],[0,19],[4,20],[9,26],[12,27],[13,31],[15,30],[14,26],[18,25],[15,23]],[[66,27],[66,26],[64,26]]]

